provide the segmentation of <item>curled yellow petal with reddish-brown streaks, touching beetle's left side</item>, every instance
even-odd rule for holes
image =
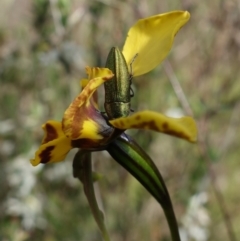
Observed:
[[[101,77],[91,79],[64,113],[63,131],[72,140],[83,138],[99,140],[103,138],[100,133],[110,128],[90,99],[96,89],[105,81],[111,79],[113,74],[106,68],[87,68],[87,72],[89,76]]]

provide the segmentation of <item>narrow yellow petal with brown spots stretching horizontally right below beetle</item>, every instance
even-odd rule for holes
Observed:
[[[141,111],[126,118],[109,121],[118,129],[150,129],[190,142],[197,140],[197,127],[192,117],[171,118],[153,111]]]

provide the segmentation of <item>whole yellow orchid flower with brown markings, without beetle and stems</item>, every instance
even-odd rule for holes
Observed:
[[[134,76],[155,68],[169,53],[174,37],[189,20],[183,11],[159,14],[139,20],[133,25],[126,39],[123,55]],[[131,64],[132,59],[136,59]],[[130,128],[151,129],[196,141],[197,129],[191,117],[170,118],[152,111],[142,111],[129,117],[109,120],[101,113],[92,98],[96,89],[113,77],[107,68],[87,68],[89,81],[65,111],[62,122],[48,121],[42,144],[31,160],[32,165],[59,162],[72,148],[103,150],[116,136]]]

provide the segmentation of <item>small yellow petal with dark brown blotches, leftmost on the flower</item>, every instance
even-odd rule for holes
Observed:
[[[72,149],[71,140],[64,135],[61,122],[48,121],[42,128],[45,136],[35,158],[31,160],[33,166],[62,161]]]

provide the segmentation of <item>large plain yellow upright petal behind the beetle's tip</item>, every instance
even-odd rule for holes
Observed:
[[[176,33],[189,18],[188,12],[174,11],[140,19],[130,28],[123,55],[129,65],[138,54],[132,64],[134,76],[149,72],[163,61]]]

